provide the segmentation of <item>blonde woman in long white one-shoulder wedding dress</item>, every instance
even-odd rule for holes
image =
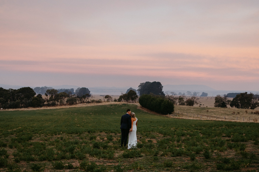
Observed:
[[[128,142],[128,149],[132,147],[137,146],[137,124],[138,124],[138,119],[135,117],[135,113],[131,112],[131,129],[129,130],[129,142]]]

